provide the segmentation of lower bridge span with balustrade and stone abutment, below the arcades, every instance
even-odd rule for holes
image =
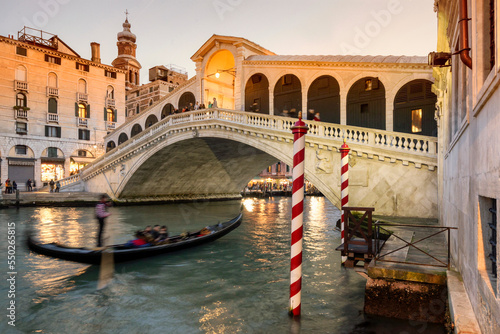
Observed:
[[[63,181],[119,201],[234,198],[267,166],[292,165],[296,119],[227,109],[171,115]],[[340,148],[351,147],[350,205],[435,217],[436,138],[307,121],[305,177],[340,201]]]

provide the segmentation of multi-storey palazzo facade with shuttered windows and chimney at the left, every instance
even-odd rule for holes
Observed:
[[[84,59],[55,35],[24,28],[0,36],[0,180],[36,187],[101,155],[125,120],[125,72]]]

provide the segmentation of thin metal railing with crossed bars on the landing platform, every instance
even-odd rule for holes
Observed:
[[[375,252],[375,257],[373,258],[374,261],[375,261],[375,264],[377,263],[377,261],[379,262],[392,262],[392,263],[401,263],[401,264],[409,264],[409,265],[417,265],[417,266],[432,266],[432,267],[440,267],[440,268],[448,268],[450,269],[450,231],[451,230],[456,230],[457,228],[456,227],[447,227],[447,226],[429,226],[429,225],[409,225],[409,224],[394,224],[394,223],[375,223],[374,224],[375,226],[375,239],[376,240],[379,240],[379,235],[380,235],[380,229],[383,229],[387,232],[392,232],[392,236],[395,237],[396,239],[398,240],[401,240],[405,243],[405,245],[399,247],[399,248],[396,248],[396,249],[393,249],[391,251],[388,251],[387,253],[384,253],[384,254],[381,254],[382,250],[383,250],[383,247],[380,246],[380,244],[378,242],[376,242],[376,252]],[[390,227],[403,227],[403,228],[408,228],[409,230],[412,230],[412,231],[415,231],[415,229],[434,229],[434,230],[438,230],[437,232],[435,233],[432,233],[430,235],[427,235],[423,238],[420,238],[419,240],[416,240],[416,241],[406,241],[404,239],[402,239],[401,237],[398,237],[397,236],[397,232],[393,232],[393,231],[390,231],[386,228],[384,228],[383,226],[390,226]],[[436,256],[433,256],[431,254],[429,254],[429,252],[426,252],[424,251],[422,248],[420,248],[419,246],[416,246],[417,243],[419,242],[422,242],[424,240],[427,240],[431,237],[434,237],[440,233],[444,233],[446,232],[447,233],[447,248],[448,248],[448,252],[447,252],[447,257],[446,257],[446,262],[444,262],[443,260],[440,260],[438,259]],[[429,232],[431,233],[431,232]],[[384,257],[390,255],[390,254],[394,254],[396,253],[397,251],[399,250],[402,250],[404,248],[408,247],[408,249],[410,249],[410,247],[413,247],[414,249],[418,250],[419,252],[425,254],[427,257],[430,257],[432,259],[434,259],[435,261],[437,261],[439,264],[429,264],[429,263],[420,263],[420,262],[411,262],[411,261],[397,261],[397,260],[389,260],[389,259],[383,259]]]

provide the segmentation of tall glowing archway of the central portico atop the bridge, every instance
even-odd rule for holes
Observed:
[[[219,108],[234,109],[236,70],[233,53],[226,49],[215,52],[204,73],[205,105],[208,106],[215,97]]]

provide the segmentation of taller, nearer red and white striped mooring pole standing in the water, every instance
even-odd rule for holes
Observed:
[[[290,260],[290,315],[300,316],[300,290],[302,286],[302,223],[304,220],[304,155],[306,133],[309,129],[299,120],[292,126],[293,133],[293,193],[292,242]]]

